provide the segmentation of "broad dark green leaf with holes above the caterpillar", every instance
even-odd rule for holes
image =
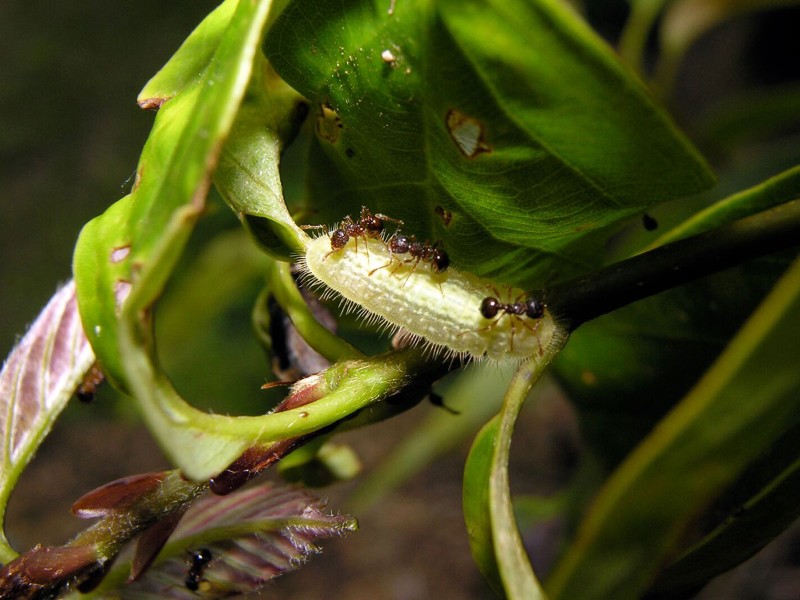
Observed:
[[[265,52],[312,102],[309,183],[323,217],[368,205],[509,283],[596,264],[603,227],[712,181],[558,2],[411,0],[389,14],[381,2],[297,0]],[[453,212],[448,226],[435,206]]]

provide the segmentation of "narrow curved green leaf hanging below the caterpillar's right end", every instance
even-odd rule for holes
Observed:
[[[470,548],[481,573],[511,599],[546,598],[533,573],[514,519],[508,461],[514,424],[533,385],[559,348],[523,363],[500,413],[480,430],[464,468],[463,506]]]

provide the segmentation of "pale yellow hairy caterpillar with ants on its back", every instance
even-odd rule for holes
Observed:
[[[351,308],[360,307],[368,322],[401,330],[435,353],[519,361],[543,355],[566,335],[543,305],[539,318],[513,313],[526,298],[521,289],[452,268],[435,272],[428,264],[392,254],[377,236],[353,236],[336,249],[331,239],[309,241],[301,260],[305,282],[325,284]],[[500,310],[486,318],[484,300],[502,295],[498,289],[505,291],[505,298],[494,306],[499,304]]]

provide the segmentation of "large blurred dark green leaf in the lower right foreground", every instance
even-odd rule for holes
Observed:
[[[797,424],[800,261],[714,367],[613,474],[547,589],[638,598],[681,533]]]

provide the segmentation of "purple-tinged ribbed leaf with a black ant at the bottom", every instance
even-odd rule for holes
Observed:
[[[143,600],[252,593],[318,553],[319,540],[355,528],[300,488],[268,483],[208,496],[187,511],[155,566],[116,591]]]

